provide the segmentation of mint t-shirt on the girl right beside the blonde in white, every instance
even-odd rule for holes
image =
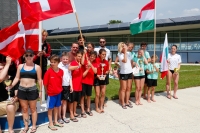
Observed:
[[[138,58],[138,57],[134,57],[133,58],[133,62],[135,62],[140,68],[142,68],[142,70],[138,73],[135,74],[134,76],[144,76],[145,75],[145,64],[144,64],[144,58]]]

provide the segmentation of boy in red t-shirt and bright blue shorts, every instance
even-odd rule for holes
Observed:
[[[64,72],[62,69],[58,68],[58,63],[60,58],[57,55],[52,55],[50,57],[51,67],[47,70],[44,75],[44,88],[47,93],[47,108],[48,108],[48,119],[49,126],[51,130],[58,130],[56,127],[63,127],[62,124],[58,122],[58,109],[61,106],[61,92],[62,92],[62,81]],[[54,113],[52,115],[52,113]],[[54,116],[54,123],[52,116]]]

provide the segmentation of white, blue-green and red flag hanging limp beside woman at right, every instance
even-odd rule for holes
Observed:
[[[168,47],[168,39],[167,39],[167,33],[165,35],[165,42],[164,42],[164,46],[163,46],[163,52],[162,52],[162,56],[161,56],[161,78],[163,79],[167,73],[168,73],[168,54],[169,54],[169,47]]]

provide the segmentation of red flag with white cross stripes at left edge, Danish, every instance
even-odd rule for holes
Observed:
[[[38,34],[38,29],[27,30],[22,21],[2,29],[0,31],[0,53],[5,56],[9,55],[13,60],[17,60],[24,54],[26,48],[38,49],[38,45],[35,45],[34,42],[26,45],[34,37],[30,35],[34,34]]]

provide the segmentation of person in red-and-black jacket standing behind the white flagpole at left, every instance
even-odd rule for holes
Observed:
[[[42,79],[44,78],[44,74],[47,71],[48,58],[51,56],[51,45],[46,41],[48,32],[46,30],[42,30],[42,51],[39,51],[34,56],[34,63],[40,65],[40,56],[42,56]]]

